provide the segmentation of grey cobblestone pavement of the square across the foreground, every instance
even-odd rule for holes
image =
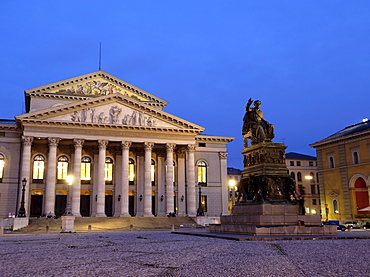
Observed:
[[[5,235],[0,276],[370,276],[370,240],[232,241],[169,231]]]

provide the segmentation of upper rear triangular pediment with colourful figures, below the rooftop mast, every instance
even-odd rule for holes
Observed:
[[[36,87],[25,91],[33,97],[99,97],[119,93],[147,104],[164,108],[168,103],[138,87],[120,80],[104,71],[70,78],[60,82]]]

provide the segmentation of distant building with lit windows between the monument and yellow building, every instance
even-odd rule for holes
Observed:
[[[303,191],[306,214],[320,214],[320,186],[316,157],[290,152],[285,155],[289,174],[296,187]]]

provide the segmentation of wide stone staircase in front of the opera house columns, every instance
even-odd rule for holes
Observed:
[[[171,229],[175,228],[195,228],[197,224],[190,217],[76,217],[75,230],[88,231],[122,231],[139,229]],[[27,227],[22,228],[22,232],[45,231],[49,226],[50,231],[60,231],[62,219],[37,218],[30,219]],[[131,226],[131,227],[130,227]]]

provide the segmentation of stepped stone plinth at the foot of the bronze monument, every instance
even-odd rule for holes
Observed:
[[[221,224],[209,225],[210,232],[244,235],[335,235],[337,227],[322,225],[319,215],[299,215],[298,205],[245,204],[221,216]]]

